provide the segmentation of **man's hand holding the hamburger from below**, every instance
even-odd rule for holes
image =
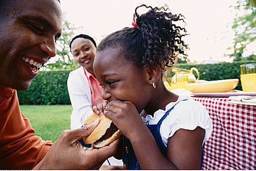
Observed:
[[[88,136],[98,124],[99,120],[96,120],[82,128],[64,130],[33,170],[99,169],[107,158],[114,155],[117,141],[101,149],[89,150],[85,150],[78,142]]]

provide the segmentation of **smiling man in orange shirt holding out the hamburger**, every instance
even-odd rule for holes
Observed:
[[[65,130],[55,143],[34,135],[16,90],[26,90],[43,64],[56,56],[62,11],[58,0],[0,0],[0,169],[98,169],[115,143],[84,150],[78,140],[98,121]],[[33,93],[33,92],[31,92]]]

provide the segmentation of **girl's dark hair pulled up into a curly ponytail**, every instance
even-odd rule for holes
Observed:
[[[137,13],[140,7],[150,8],[150,10],[141,16]],[[165,12],[161,12],[160,10]],[[181,14],[173,15],[166,12],[164,7],[152,8],[142,4],[135,9],[133,19],[138,27],[125,27],[104,38],[97,47],[97,51],[106,48],[121,48],[121,52],[129,61],[133,61],[138,67],[154,64],[171,67],[174,64],[175,54],[187,54],[178,47],[179,44],[188,48],[181,38],[187,34],[185,28],[175,25],[174,21],[183,21]],[[176,53],[174,53],[176,52]]]

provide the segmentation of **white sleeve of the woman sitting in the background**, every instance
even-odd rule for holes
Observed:
[[[71,71],[67,80],[67,87],[73,107],[72,115],[74,115],[71,117],[71,129],[79,128],[84,125],[86,118],[92,113],[91,92],[85,74]]]

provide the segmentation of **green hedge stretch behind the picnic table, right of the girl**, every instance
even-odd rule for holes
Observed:
[[[242,90],[240,82],[240,65],[241,64],[251,64],[256,63],[256,61],[243,61],[234,63],[219,63],[219,64],[175,64],[175,67],[190,69],[196,67],[199,70],[200,80],[225,80],[225,79],[239,79],[239,83],[235,89]],[[195,75],[196,73],[193,72]],[[167,77],[171,77],[173,73],[169,68],[167,70]]]

